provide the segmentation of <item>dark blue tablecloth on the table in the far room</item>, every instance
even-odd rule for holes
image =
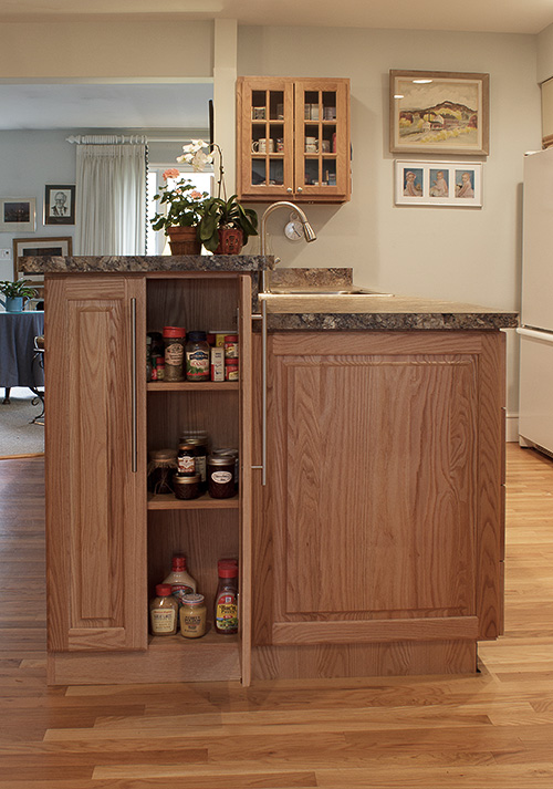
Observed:
[[[0,312],[0,386],[43,386],[34,338],[44,334],[43,312]]]

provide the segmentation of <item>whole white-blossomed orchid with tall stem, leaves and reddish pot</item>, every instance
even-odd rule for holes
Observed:
[[[238,255],[248,238],[258,235],[258,215],[252,208],[243,208],[237,195],[227,199],[222,150],[217,143],[208,145],[202,139],[192,139],[182,146],[182,150],[177,162],[189,164],[195,170],[202,170],[207,164],[213,164],[216,152],[219,155],[217,197],[209,197],[204,203],[198,238],[210,252]]]

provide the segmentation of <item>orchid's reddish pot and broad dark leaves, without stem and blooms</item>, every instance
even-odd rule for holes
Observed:
[[[210,252],[238,255],[248,238],[258,235],[258,215],[252,208],[243,208],[237,195],[228,200],[211,197],[204,205],[198,233]]]

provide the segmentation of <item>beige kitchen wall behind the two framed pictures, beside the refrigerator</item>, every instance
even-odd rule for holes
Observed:
[[[281,266],[353,264],[356,281],[371,288],[519,308],[522,158],[525,150],[540,147],[541,139],[536,37],[242,28],[238,52],[242,75],[352,81],[352,201],[307,206],[319,235],[309,246],[285,240],[281,231],[286,215],[275,211],[270,241]],[[482,209],[394,206],[389,69],[490,74],[490,155],[469,159],[484,163]],[[441,160],[456,158],[462,160]],[[509,334],[508,411],[515,416],[518,343],[513,332]]]

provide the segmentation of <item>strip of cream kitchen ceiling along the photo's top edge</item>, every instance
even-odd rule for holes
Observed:
[[[241,24],[539,33],[552,0],[0,0],[0,20],[115,15],[237,19]]]

